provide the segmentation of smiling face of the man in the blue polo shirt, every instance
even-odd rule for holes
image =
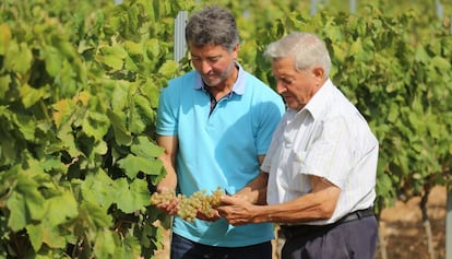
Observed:
[[[201,74],[204,83],[211,87],[224,87],[225,82],[236,79],[233,76],[235,60],[238,55],[238,45],[233,51],[228,51],[221,45],[207,44],[197,47],[189,44],[191,62]]]

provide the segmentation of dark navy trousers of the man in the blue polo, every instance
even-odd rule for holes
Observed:
[[[217,247],[171,236],[171,259],[272,259],[272,243],[243,247]]]

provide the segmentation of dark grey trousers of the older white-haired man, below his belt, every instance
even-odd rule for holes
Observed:
[[[374,259],[377,243],[377,220],[367,216],[286,237],[282,259]]]

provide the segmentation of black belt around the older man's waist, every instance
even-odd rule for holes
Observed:
[[[372,215],[373,215],[373,208],[368,208],[365,210],[358,210],[358,211],[350,212],[344,217],[342,217],[341,220],[334,223],[331,223],[331,224],[326,224],[326,225],[281,225],[281,229],[284,234],[284,237],[286,239],[290,239],[296,236],[311,235],[311,234],[320,233],[320,232],[324,233],[346,222],[357,221],[362,217],[372,216]]]

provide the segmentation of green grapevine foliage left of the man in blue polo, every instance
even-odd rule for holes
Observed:
[[[5,1],[0,11],[0,258],[150,258],[164,176],[159,89],[190,1]]]

